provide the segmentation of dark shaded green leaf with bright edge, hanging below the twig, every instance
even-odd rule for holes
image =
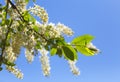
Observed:
[[[75,49],[72,48],[71,46],[63,46],[62,49],[66,59],[72,60],[72,61],[78,59]]]

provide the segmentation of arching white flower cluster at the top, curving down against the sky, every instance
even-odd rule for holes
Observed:
[[[40,17],[43,23],[48,22],[48,14],[43,7],[40,7],[39,5],[34,4],[34,7],[30,7],[28,10],[32,14]]]

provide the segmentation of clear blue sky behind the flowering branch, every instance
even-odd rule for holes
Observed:
[[[46,78],[39,59],[27,64],[22,51],[17,64],[24,79],[3,70],[0,82],[120,82],[120,0],[37,0],[37,4],[47,9],[49,22],[61,22],[74,30],[75,35],[68,41],[92,34],[96,37],[93,43],[102,53],[93,57],[79,54],[81,75],[77,77],[65,60],[51,57],[51,76]]]

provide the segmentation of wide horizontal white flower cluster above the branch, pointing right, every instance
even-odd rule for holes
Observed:
[[[56,25],[54,23],[43,25],[37,21],[36,26],[40,29],[39,31],[40,34],[42,35],[45,35],[46,33],[49,34],[48,35],[49,37],[47,38],[60,38],[61,36],[63,36],[63,34],[67,36],[72,36],[74,33],[71,28],[61,23],[58,23]]]

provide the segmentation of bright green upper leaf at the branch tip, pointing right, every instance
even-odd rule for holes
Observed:
[[[86,45],[94,39],[92,35],[85,34],[79,37],[76,37],[72,40],[71,44]]]

